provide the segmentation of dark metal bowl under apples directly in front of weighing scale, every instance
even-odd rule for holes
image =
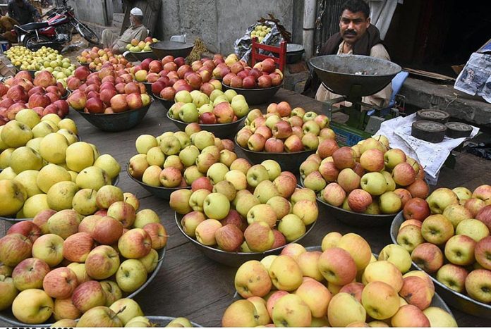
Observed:
[[[305,187],[305,185],[303,185],[302,178],[300,178],[300,183],[303,187]],[[354,211],[344,210],[337,206],[332,206],[331,204],[328,204],[327,202],[322,200],[320,197],[317,197],[317,202],[325,206],[325,209],[330,216],[333,216],[341,223],[356,228],[372,228],[374,226],[389,225],[394,220],[394,217],[396,217],[396,215],[398,214],[389,213],[381,215],[370,215],[368,213],[356,213]],[[399,213],[402,213],[402,211],[399,211]]]

